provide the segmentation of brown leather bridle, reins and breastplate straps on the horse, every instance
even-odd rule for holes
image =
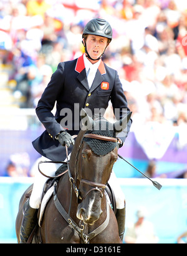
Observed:
[[[76,136],[76,135],[75,135]],[[75,138],[75,136],[73,136]],[[77,151],[77,155],[76,155],[76,163],[75,166],[77,167],[77,163],[78,163],[78,158],[79,158],[79,152],[80,152],[80,148],[82,146],[82,143],[84,141],[84,138],[93,138],[93,139],[97,139],[97,140],[105,140],[105,141],[112,141],[112,142],[117,142],[117,138],[113,138],[113,137],[107,137],[107,136],[102,136],[102,135],[95,135],[92,133],[89,134],[85,134],[82,137],[82,141],[80,142],[79,145],[79,150]],[[64,175],[66,172],[69,173],[69,181],[71,184],[71,195],[70,195],[70,206],[69,206],[69,213],[65,212],[64,207],[62,207],[62,204],[59,202],[59,199],[57,197],[57,182],[54,182],[54,203],[55,203],[55,207],[57,208],[57,210],[59,210],[60,215],[62,215],[62,217],[64,217],[64,219],[66,220],[66,222],[70,225],[71,228],[73,228],[75,230],[75,232],[78,233],[78,235],[80,236],[80,238],[82,239],[82,241],[84,243],[89,243],[89,240],[92,239],[93,237],[95,237],[96,235],[98,235],[99,233],[101,233],[108,225],[109,223],[109,219],[110,219],[110,209],[109,209],[109,204],[107,203],[107,217],[105,219],[105,221],[95,230],[93,230],[93,232],[89,233],[88,235],[85,235],[84,233],[84,225],[81,225],[81,227],[79,227],[77,225],[77,223],[74,222],[74,220],[72,220],[72,218],[70,218],[70,207],[72,204],[72,188],[74,189],[75,195],[77,197],[77,202],[78,200],[84,200],[85,197],[87,197],[87,195],[93,191],[93,190],[97,190],[98,192],[101,193],[101,198],[103,197],[103,192],[102,189],[106,188],[105,184],[102,183],[96,183],[96,182],[91,182],[90,180],[85,180],[85,179],[81,179],[80,182],[81,183],[85,183],[93,188],[91,188],[89,190],[89,192],[86,193],[84,198],[80,197],[80,193],[79,193],[79,189],[77,188],[76,184],[75,184],[75,180],[72,177],[71,173],[70,173],[70,168],[69,168],[69,155],[68,155],[68,149],[67,149],[67,145],[65,145],[65,150],[66,150],[66,157],[67,157],[67,162],[66,161],[40,161],[40,163],[66,163],[67,164],[67,170],[63,173],[60,173],[60,175],[57,175],[55,177],[49,177],[47,175],[45,175],[44,173],[41,172],[40,168],[39,168],[39,172],[44,175],[47,178],[57,178],[60,177],[62,175]],[[76,168],[77,169],[77,168]]]

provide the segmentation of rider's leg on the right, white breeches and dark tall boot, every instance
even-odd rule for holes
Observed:
[[[125,232],[125,195],[123,194],[122,188],[118,184],[118,179],[115,173],[112,172],[108,183],[113,189],[115,195],[117,213],[116,218],[118,222],[118,230],[121,240],[123,241],[123,235]]]

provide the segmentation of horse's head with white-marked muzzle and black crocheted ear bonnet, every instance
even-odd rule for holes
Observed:
[[[75,183],[79,190],[77,218],[93,225],[102,215],[104,190],[118,158],[116,135],[125,129],[128,120],[125,116],[125,121],[112,124],[104,118],[93,120],[86,113],[84,118],[87,128],[83,126],[75,141],[77,153],[72,151],[76,162]]]

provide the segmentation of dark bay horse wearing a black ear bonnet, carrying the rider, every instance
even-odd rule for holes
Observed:
[[[54,183],[54,195],[47,202],[32,243],[122,243],[105,187],[118,158],[116,135],[125,129],[130,115],[111,124],[104,118],[93,120],[85,113],[87,125],[75,140],[68,172]],[[19,203],[18,242],[25,195],[31,190],[32,185]]]

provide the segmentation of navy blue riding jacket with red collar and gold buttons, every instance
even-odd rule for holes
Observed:
[[[106,110],[110,100],[114,111],[120,109],[117,111],[118,116],[115,115],[117,120],[123,117],[123,110],[126,109],[126,113],[130,111],[115,69],[101,61],[92,87],[89,88],[83,55],[78,59],[59,63],[36,108],[36,114],[46,130],[32,141],[34,148],[52,161],[64,161],[65,147],[60,145],[55,136],[66,128],[70,135],[77,135],[80,130],[81,108],[89,109],[92,113],[95,108]],[[51,111],[55,103],[56,111],[53,115]],[[131,124],[132,120],[128,122],[123,141]],[[71,150],[72,146],[69,152]]]

